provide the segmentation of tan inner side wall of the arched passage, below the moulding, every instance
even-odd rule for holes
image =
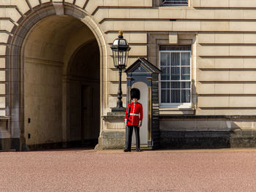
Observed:
[[[62,64],[28,59],[24,70],[26,145],[61,142]]]

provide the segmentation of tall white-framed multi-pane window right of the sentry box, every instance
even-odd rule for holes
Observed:
[[[160,46],[160,105],[191,107],[191,47]]]

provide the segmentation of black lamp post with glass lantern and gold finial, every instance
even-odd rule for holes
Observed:
[[[119,85],[118,85],[118,101],[116,107],[112,109],[112,112],[124,112],[122,91],[121,91],[121,72],[127,66],[128,53],[131,48],[129,47],[127,40],[123,37],[123,31],[119,31],[118,39],[113,41],[111,50],[113,51],[113,64],[116,69],[119,69]]]

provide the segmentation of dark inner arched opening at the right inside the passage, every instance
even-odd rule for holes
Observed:
[[[99,46],[96,39],[78,48],[69,63],[70,140],[95,146],[99,137]]]

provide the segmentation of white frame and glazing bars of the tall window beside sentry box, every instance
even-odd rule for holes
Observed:
[[[159,75],[159,107],[162,108],[191,108],[192,107],[192,50],[159,50],[159,69],[161,69],[161,53],[190,53],[189,57],[189,80],[161,80],[161,74]],[[180,64],[181,67],[181,58]],[[171,69],[171,66],[170,66]],[[170,73],[171,75],[171,73]],[[181,69],[180,69],[180,77],[181,77]],[[170,82],[170,96],[171,96],[171,82],[188,82],[190,81],[190,102],[189,103],[162,103],[162,88],[161,82]],[[181,90],[181,88],[178,88]],[[171,101],[171,98],[170,98]]]

